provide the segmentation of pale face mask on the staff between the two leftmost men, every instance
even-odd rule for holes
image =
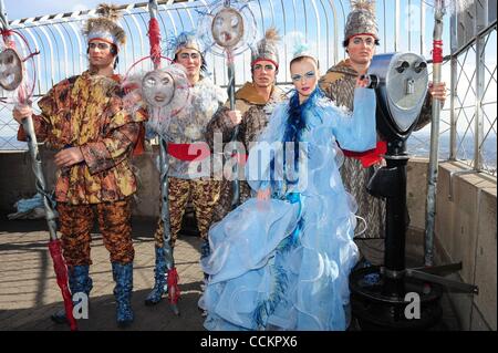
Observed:
[[[148,105],[164,107],[175,95],[175,81],[167,72],[151,71],[142,80],[142,94]]]

